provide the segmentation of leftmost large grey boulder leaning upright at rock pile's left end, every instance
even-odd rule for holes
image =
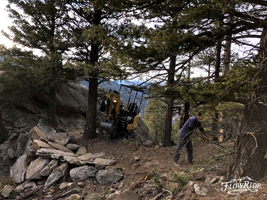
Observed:
[[[24,182],[28,165],[29,155],[23,154],[10,169],[10,177],[14,178],[16,183]]]

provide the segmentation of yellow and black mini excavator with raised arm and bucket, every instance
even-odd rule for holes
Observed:
[[[121,103],[121,87],[130,89],[129,100],[126,107]],[[135,91],[135,97],[130,103],[132,91]],[[135,102],[138,92],[142,93],[139,107]],[[100,123],[100,129],[107,130],[109,132],[109,138],[115,139],[117,134],[124,134],[132,138],[135,137],[134,130],[136,130],[138,126],[143,94],[143,89],[123,84],[120,84],[119,91],[112,89],[108,91],[107,101],[104,100],[100,105],[100,111],[106,111],[105,118],[103,118]]]

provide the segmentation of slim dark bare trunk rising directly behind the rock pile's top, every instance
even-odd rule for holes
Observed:
[[[49,87],[49,97],[48,97],[48,123],[50,126],[54,127],[57,132],[60,132],[57,119],[56,119],[56,85]]]

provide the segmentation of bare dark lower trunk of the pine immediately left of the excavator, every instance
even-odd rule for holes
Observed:
[[[83,138],[96,138],[96,106],[97,106],[97,78],[89,79],[88,110],[84,127]]]

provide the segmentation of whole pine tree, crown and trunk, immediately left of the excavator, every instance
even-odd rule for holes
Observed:
[[[123,17],[119,4],[108,0],[68,1],[72,10],[73,53],[68,58],[76,67],[84,69],[80,80],[89,82],[89,98],[83,138],[96,137],[97,87],[101,82],[123,76],[120,66],[109,58],[109,42],[119,38],[119,31],[126,23],[117,23]]]

